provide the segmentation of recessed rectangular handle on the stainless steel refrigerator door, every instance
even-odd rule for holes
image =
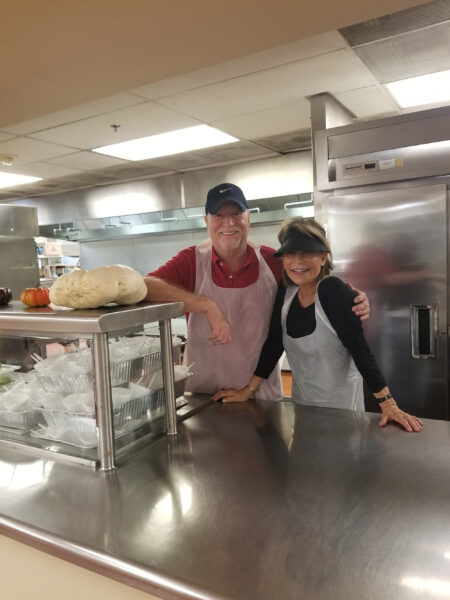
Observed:
[[[437,358],[438,305],[411,304],[411,356]]]

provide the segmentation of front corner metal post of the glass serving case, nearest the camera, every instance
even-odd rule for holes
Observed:
[[[116,467],[116,461],[107,333],[94,333],[92,359],[94,362],[94,395],[97,409],[100,470],[112,471]]]

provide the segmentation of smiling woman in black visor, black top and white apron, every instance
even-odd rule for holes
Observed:
[[[283,283],[258,366],[245,388],[222,390],[213,400],[248,400],[286,350],[295,402],[364,410],[364,379],[380,403],[380,426],[396,421],[407,431],[421,431],[422,421],[400,410],[377,367],[361,321],[351,310],[355,292],[330,276],[333,263],[323,227],[313,220],[289,219],[278,239],[281,247],[274,256],[282,259]]]

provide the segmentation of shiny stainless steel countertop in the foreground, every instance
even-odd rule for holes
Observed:
[[[209,405],[113,473],[11,450],[0,533],[161,598],[449,598],[450,423],[378,420]]]

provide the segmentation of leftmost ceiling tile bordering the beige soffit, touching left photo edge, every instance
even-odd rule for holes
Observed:
[[[113,96],[94,100],[93,102],[79,104],[78,106],[67,108],[66,110],[59,110],[58,112],[50,113],[37,119],[9,125],[5,127],[3,131],[11,132],[16,135],[23,135],[33,131],[42,131],[43,129],[56,127],[72,121],[79,121],[81,119],[133,106],[134,104],[140,104],[142,102],[143,99],[136,96],[136,94],[123,92],[122,94],[114,94]]]

